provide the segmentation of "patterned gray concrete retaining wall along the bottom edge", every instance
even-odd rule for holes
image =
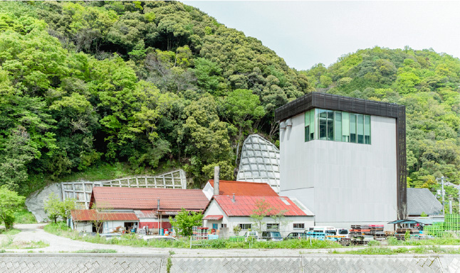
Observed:
[[[1,254],[0,272],[459,272],[459,255]]]

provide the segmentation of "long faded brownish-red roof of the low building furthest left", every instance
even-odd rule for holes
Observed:
[[[204,210],[209,200],[202,190],[172,188],[94,187],[91,203],[99,208],[128,208],[133,210]]]

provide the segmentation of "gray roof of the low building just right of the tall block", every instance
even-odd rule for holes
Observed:
[[[407,215],[439,214],[441,202],[427,188],[407,188]]]

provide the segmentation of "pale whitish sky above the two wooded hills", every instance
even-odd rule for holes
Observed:
[[[274,50],[291,68],[375,45],[460,57],[460,1],[183,1]]]

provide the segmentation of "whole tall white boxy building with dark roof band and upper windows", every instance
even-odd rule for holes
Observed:
[[[386,225],[407,211],[404,106],[313,92],[275,116],[280,194],[315,225]]]

